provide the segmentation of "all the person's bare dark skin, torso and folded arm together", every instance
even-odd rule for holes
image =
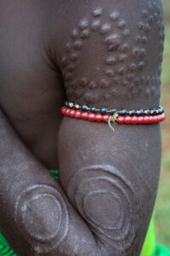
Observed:
[[[0,229],[18,255],[139,255],[160,125],[113,132],[60,108],[156,108],[162,19],[160,0],[0,1]]]

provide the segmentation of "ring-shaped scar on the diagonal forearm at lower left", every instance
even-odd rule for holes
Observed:
[[[65,201],[59,191],[49,185],[32,185],[19,196],[15,220],[37,253],[53,252],[69,230]]]

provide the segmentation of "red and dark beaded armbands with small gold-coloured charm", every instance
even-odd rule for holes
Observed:
[[[87,105],[78,105],[73,102],[65,102],[65,106],[61,108],[61,113],[66,116],[84,119],[89,121],[105,122],[110,125],[111,122],[116,122],[117,124],[155,124],[163,121],[165,119],[164,109],[159,106],[159,108],[152,109],[138,109],[129,110],[121,109],[110,109],[107,108],[88,108]],[[114,130],[114,129],[113,129]]]

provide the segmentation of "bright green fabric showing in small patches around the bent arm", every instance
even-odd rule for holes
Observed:
[[[49,171],[57,180],[59,180],[59,171]],[[16,253],[9,247],[8,242],[4,236],[0,233],[0,256],[17,256]],[[170,256],[170,252],[167,248],[156,244],[154,235],[154,221],[151,218],[150,227],[145,237],[144,246],[140,256]]]

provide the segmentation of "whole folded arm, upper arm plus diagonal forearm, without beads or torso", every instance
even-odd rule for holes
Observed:
[[[59,15],[69,22],[51,26],[54,41],[55,32],[62,36],[56,48],[54,41],[48,45],[70,101],[157,107],[160,1],[70,2]],[[159,125],[115,124],[113,132],[106,124],[63,118],[61,189],[3,113],[0,120],[0,225],[18,255],[139,255],[156,198]]]

